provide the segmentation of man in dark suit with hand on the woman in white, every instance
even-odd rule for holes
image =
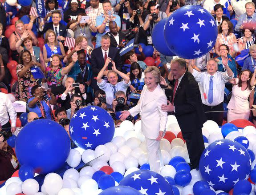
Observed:
[[[199,159],[204,150],[202,135],[203,123],[206,117],[200,91],[194,76],[187,70],[186,60],[177,58],[172,60],[171,73],[175,79],[172,103],[163,104],[163,111],[174,111],[187,143],[191,169],[198,168]]]

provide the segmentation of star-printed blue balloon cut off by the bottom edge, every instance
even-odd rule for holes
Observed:
[[[142,195],[173,195],[167,180],[160,174],[149,170],[138,170],[124,177],[119,186],[130,186]]]

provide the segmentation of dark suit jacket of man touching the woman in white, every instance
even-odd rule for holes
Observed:
[[[203,127],[206,116],[197,82],[190,72],[180,81],[174,97],[175,116],[183,132],[192,132]]]

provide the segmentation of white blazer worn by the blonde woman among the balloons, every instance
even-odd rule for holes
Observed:
[[[148,88],[145,84],[138,104],[129,111],[132,116],[140,113],[143,135],[149,139],[156,139],[159,131],[165,133],[166,130],[167,112],[162,111],[161,105],[167,104],[167,97],[159,84],[152,92],[153,96],[145,96],[146,91]]]

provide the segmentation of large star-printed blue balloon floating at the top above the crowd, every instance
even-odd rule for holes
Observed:
[[[164,27],[168,48],[185,59],[198,58],[210,52],[217,35],[214,18],[207,10],[196,5],[177,9]]]

